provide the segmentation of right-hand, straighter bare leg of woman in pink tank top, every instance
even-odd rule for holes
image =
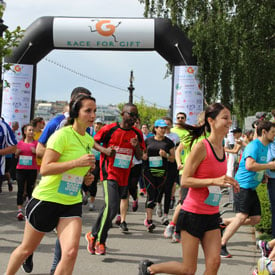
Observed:
[[[221,233],[219,229],[206,231],[202,239],[205,255],[204,275],[216,275],[220,267]]]

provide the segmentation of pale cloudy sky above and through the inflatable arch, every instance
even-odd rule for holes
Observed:
[[[41,16],[142,18],[143,11],[138,0],[10,0],[3,20],[12,31],[17,26],[26,29]],[[80,77],[49,60],[123,91]],[[148,105],[168,108],[172,83],[170,77],[165,79],[166,63],[155,51],[53,50],[37,64],[36,99],[68,100],[73,88],[83,86],[92,91],[99,105],[128,102],[133,70],[134,102],[143,97]]]

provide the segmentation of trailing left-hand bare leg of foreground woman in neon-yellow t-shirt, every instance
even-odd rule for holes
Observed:
[[[26,221],[22,243],[12,252],[6,274],[15,274],[24,260],[39,245],[45,233],[38,232]]]

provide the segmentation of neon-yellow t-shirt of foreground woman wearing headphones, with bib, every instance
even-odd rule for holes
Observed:
[[[66,126],[54,132],[47,142],[47,148],[60,154],[58,162],[75,160],[91,153],[94,146],[93,138],[85,133],[84,136]],[[76,167],[63,174],[42,177],[32,196],[38,200],[56,202],[64,205],[80,203],[81,184],[89,166]]]

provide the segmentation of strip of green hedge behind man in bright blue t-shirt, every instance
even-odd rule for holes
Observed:
[[[257,188],[257,194],[261,202],[261,222],[256,225],[256,229],[262,233],[271,234],[271,211],[267,192],[267,185],[260,184]]]

